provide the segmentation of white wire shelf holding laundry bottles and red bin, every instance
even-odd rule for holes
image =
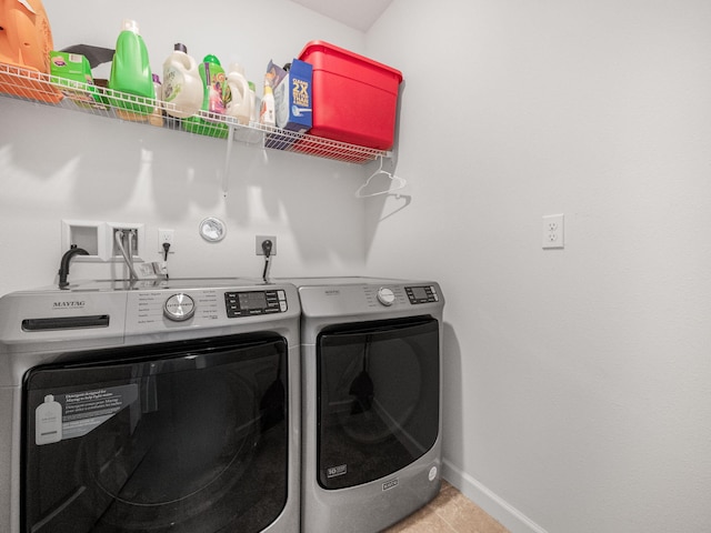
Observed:
[[[176,110],[173,103],[136,97],[98,84],[76,82],[7,63],[0,63],[0,93],[3,97],[100,117],[142,122],[147,125],[184,131],[189,134],[230,139],[257,148],[282,150],[348,163],[367,163],[391,155],[391,152],[383,150],[296,133],[259,123],[240,124],[233,117],[202,110],[187,119],[178,119],[170,114]]]

